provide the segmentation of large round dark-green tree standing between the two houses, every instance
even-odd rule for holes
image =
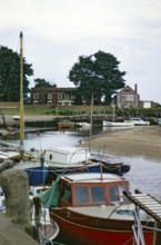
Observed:
[[[69,79],[85,100],[90,100],[93,94],[94,104],[100,105],[103,98],[103,102],[110,105],[112,95],[125,85],[125,71],[119,70],[119,63],[113,55],[103,51],[80,56],[69,71]]]

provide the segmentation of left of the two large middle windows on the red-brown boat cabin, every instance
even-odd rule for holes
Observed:
[[[77,204],[89,204],[89,189],[88,187],[76,187],[76,203]]]

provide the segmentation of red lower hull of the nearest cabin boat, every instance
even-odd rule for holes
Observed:
[[[71,215],[71,216],[70,216]],[[97,219],[69,210],[54,210],[51,215],[60,227],[58,241],[79,245],[133,245],[133,220]],[[122,225],[123,224],[123,225]],[[63,237],[63,238],[62,238]],[[152,233],[145,233],[147,245],[152,244]]]

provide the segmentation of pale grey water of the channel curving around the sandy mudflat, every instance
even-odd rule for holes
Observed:
[[[108,131],[110,129],[105,129]],[[102,129],[97,129],[93,134],[100,134]],[[74,146],[79,145],[81,139],[89,137],[89,129],[79,130],[49,130],[40,134],[28,133],[24,138],[26,149],[37,148],[46,149],[50,147]],[[19,144],[18,139],[10,140],[13,144]],[[143,158],[128,158],[119,156],[108,156],[111,163],[124,163],[131,166],[128,174],[124,175],[129,179],[130,188],[140,189],[147,194],[151,194],[161,200],[161,161],[150,161]]]

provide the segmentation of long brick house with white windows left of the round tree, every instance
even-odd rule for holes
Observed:
[[[31,88],[31,105],[33,106],[72,106],[74,105],[76,88]]]

